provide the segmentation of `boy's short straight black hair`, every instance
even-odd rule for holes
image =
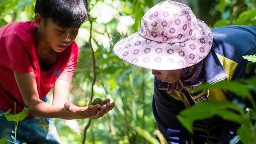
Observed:
[[[35,13],[60,27],[79,28],[88,16],[87,0],[36,0]]]

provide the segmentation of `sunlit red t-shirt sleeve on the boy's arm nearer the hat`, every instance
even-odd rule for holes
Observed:
[[[76,69],[77,61],[78,61],[78,46],[74,44],[74,46],[72,46],[72,53],[70,55],[68,64],[66,65],[66,67],[64,68],[64,70],[62,71],[58,79],[66,80],[71,83],[75,69]]]

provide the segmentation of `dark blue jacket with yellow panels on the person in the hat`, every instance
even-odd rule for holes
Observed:
[[[209,54],[204,58],[206,82],[214,84],[221,80],[233,80],[248,78],[246,74],[247,60],[245,55],[256,54],[256,28],[251,26],[224,26],[212,29],[213,45]],[[190,143],[189,132],[181,126],[176,116],[184,108],[193,104],[188,92],[173,92],[168,94],[166,83],[154,79],[153,113],[159,130],[165,136],[169,144]],[[234,96],[226,96],[222,90],[209,89],[209,100],[232,99]],[[226,128],[226,129],[225,129]],[[235,135],[236,128],[224,126],[222,134],[218,138],[218,144],[229,143]]]

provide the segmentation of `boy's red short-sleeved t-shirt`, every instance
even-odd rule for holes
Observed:
[[[16,113],[24,109],[24,101],[14,78],[14,72],[34,72],[41,100],[54,86],[56,79],[71,83],[78,60],[78,46],[73,42],[58,53],[49,71],[40,70],[36,53],[36,26],[32,22],[13,22],[0,29],[0,109]]]

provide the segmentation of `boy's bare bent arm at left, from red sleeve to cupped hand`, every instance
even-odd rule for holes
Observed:
[[[99,111],[100,105],[75,107],[69,103],[66,103],[65,106],[47,104],[39,98],[34,72],[22,74],[14,71],[14,76],[24,103],[28,111],[34,116],[42,118],[84,119],[94,116]]]

